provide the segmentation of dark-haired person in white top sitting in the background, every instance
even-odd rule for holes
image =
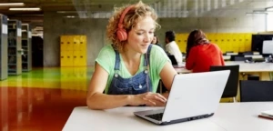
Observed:
[[[182,53],[176,43],[176,33],[174,31],[167,31],[165,34],[166,52],[169,55],[174,55],[177,60],[177,65],[182,65]]]

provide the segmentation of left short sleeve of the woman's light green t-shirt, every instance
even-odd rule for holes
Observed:
[[[108,74],[111,74],[115,65],[115,51],[111,45],[104,46],[96,57],[96,63],[102,66]]]

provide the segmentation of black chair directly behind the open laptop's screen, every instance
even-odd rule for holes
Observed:
[[[235,97],[238,92],[239,65],[210,66],[210,71],[220,70],[230,70],[230,75],[228,76],[227,85],[224,89],[222,98],[233,97],[233,102],[236,102]]]

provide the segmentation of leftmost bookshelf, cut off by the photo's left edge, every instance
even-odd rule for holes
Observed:
[[[7,78],[7,17],[0,14],[0,80]]]

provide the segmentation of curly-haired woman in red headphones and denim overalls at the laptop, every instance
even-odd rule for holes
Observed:
[[[141,1],[118,8],[109,18],[106,33],[112,45],[96,57],[86,96],[90,109],[166,105],[167,94],[157,94],[157,85],[161,79],[170,90],[177,72],[164,50],[151,44],[156,20],[154,9]]]

